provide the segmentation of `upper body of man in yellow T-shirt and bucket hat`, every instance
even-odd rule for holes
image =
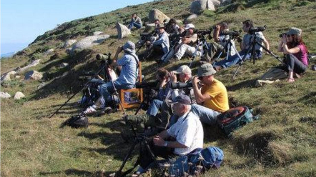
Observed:
[[[214,78],[216,71],[210,63],[198,68],[197,76],[193,77],[192,85],[197,103],[213,111],[224,112],[229,109],[228,94],[224,84]],[[198,82],[203,84],[198,88]]]

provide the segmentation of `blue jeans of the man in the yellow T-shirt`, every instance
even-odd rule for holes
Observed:
[[[200,118],[200,121],[202,123],[208,124],[208,125],[214,125],[216,124],[217,116],[221,114],[221,112],[214,111],[212,109],[209,109],[207,107],[193,104],[191,107],[191,111],[193,114],[195,114],[197,117]],[[176,123],[178,120],[178,116],[173,115],[170,118],[170,123],[168,127],[171,127],[174,123]]]

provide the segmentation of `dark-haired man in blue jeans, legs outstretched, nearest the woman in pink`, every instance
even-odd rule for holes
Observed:
[[[241,58],[244,57],[244,55],[246,55],[246,60],[251,58],[251,52],[249,52],[248,54],[246,54],[246,52],[248,51],[249,47],[251,46],[251,43],[253,41],[252,39],[252,34],[250,34],[250,28],[253,27],[253,22],[252,20],[246,20],[243,23],[242,29],[244,32],[246,32],[247,34],[244,35],[242,42],[240,42],[240,49],[241,51],[239,52],[239,55]],[[263,33],[261,31],[259,32],[255,32],[255,36],[257,39],[258,43],[264,44],[265,47],[269,50],[269,42],[265,39]],[[256,58],[262,58],[262,47],[259,45],[255,46],[255,50],[256,50]],[[228,68],[230,66],[234,66],[236,64],[238,64],[240,62],[240,58],[237,54],[233,55],[233,56],[229,56],[228,60],[224,59],[218,62],[213,63],[214,68],[216,69],[216,71],[219,71],[223,68]]]

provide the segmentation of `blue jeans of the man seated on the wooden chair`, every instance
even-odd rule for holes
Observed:
[[[118,92],[120,89],[130,89],[130,88],[134,87],[133,85],[122,84],[122,83],[115,82],[115,81],[113,81],[113,84]],[[107,83],[100,85],[99,93],[101,96],[103,96],[103,98],[100,99],[101,108],[106,106],[106,102],[112,101],[111,95],[114,93],[113,84],[112,84],[112,82],[107,82]]]

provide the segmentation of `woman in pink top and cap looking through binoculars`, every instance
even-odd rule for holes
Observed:
[[[308,67],[307,48],[301,37],[302,30],[292,27],[283,34],[278,51],[285,54],[285,64],[289,70],[288,82],[294,82],[293,73],[301,74]]]

